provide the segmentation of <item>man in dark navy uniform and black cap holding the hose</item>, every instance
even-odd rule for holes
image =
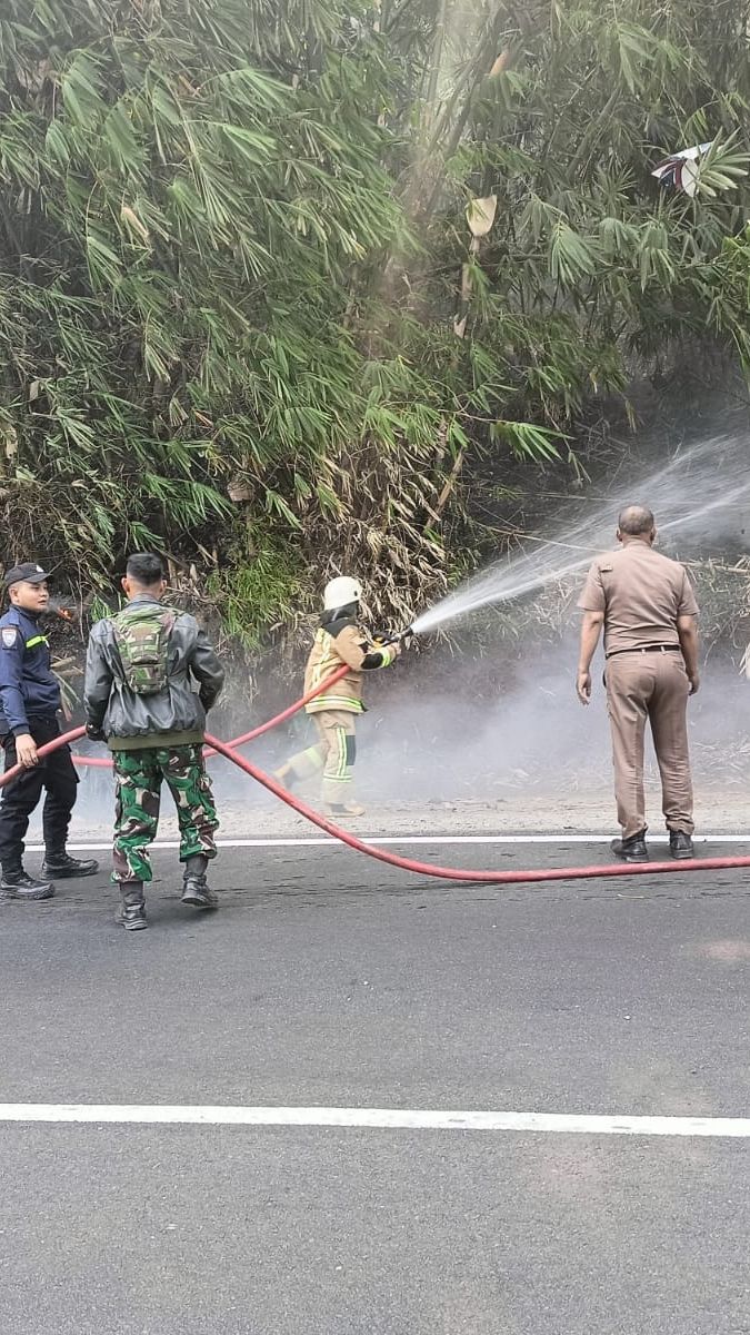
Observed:
[[[33,562],[13,566],[4,577],[9,610],[0,617],[0,741],[5,769],[20,762],[24,769],[3,789],[0,804],[0,897],[48,900],[52,878],[92,876],[93,858],[80,861],[65,850],[71,812],[76,801],[77,774],[69,746],[60,746],[41,760],[37,748],[60,736],[57,713],[60,686],[49,666],[49,646],[40,618],[49,603],[47,571]],[[44,880],[24,872],[24,837],[41,790]]]

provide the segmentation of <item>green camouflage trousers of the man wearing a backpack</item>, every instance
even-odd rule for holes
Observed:
[[[115,845],[112,880],[149,881],[148,845],[156,836],[161,781],[177,809],[180,862],[203,853],[216,856],[214,833],[219,828],[211,781],[203,764],[203,746],[173,746],[113,752]]]

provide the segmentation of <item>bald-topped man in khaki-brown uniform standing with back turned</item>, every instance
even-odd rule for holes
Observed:
[[[687,697],[698,690],[698,605],[686,571],[654,551],[654,515],[629,506],[619,515],[619,551],[597,557],[578,606],[583,609],[578,698],[591,700],[591,659],[605,627],[605,684],[613,734],[615,798],[622,838],[613,852],[646,862],[643,734],[651,725],[662,777],[662,808],[673,857],[693,857],[693,784]]]

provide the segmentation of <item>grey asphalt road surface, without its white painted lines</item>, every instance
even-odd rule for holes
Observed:
[[[750,1115],[749,873],[466,888],[242,849],[199,916],[171,857],[148,932],[112,924],[104,874],[0,906],[0,1101]],[[749,1157],[747,1139],[0,1123],[0,1332],[739,1335]]]

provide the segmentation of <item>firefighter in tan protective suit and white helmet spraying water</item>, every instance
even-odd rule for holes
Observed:
[[[331,677],[344,663],[347,674],[306,706],[318,732],[318,742],[292,756],[279,770],[279,782],[292,788],[323,770],[323,805],[331,816],[364,816],[352,798],[352,769],[356,758],[356,716],[366,672],[390,668],[400,645],[371,642],[358,625],[362,586],[340,575],[326,586],[323,615],[307,659],[304,694]]]

